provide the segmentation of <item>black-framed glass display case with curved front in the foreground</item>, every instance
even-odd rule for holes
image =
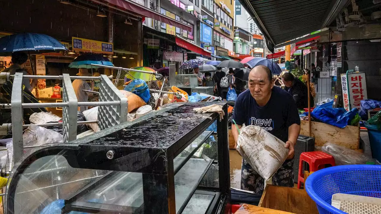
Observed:
[[[229,213],[227,117],[193,111],[205,105],[172,104],[29,150],[10,175],[6,213]],[[206,131],[215,120],[217,132]]]

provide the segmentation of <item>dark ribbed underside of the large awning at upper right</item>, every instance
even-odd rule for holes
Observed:
[[[274,46],[322,29],[336,0],[242,0],[241,3]]]

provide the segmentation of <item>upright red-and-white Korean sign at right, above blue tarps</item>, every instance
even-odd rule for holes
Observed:
[[[368,99],[365,72],[348,73],[348,75],[343,73],[341,75],[341,88],[343,90],[344,109],[347,111],[352,108],[360,109],[360,101]],[[344,94],[344,89],[347,95]],[[347,106],[346,102],[348,103]]]

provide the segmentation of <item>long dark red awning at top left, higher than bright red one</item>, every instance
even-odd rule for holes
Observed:
[[[192,30],[192,28],[187,26],[186,24],[176,21],[175,19],[168,18],[164,16],[163,14],[150,10],[142,5],[139,5],[131,1],[126,1],[126,0],[103,0],[103,1],[108,2],[111,5],[117,6],[120,9],[132,11],[133,13],[136,13],[138,14],[138,16],[141,16],[141,17],[148,17],[151,19],[155,19],[157,21],[164,22],[171,26],[179,27],[183,30],[187,30],[187,31]]]

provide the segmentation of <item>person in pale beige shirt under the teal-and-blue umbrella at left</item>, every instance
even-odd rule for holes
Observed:
[[[77,76],[90,77],[91,73],[89,73],[88,70],[85,68],[80,68],[79,73],[77,73]],[[89,95],[91,95],[92,93],[85,92],[82,90],[93,91],[94,90],[94,81],[91,81],[91,87],[85,80],[79,80],[79,79],[74,80],[72,85],[74,88],[75,95],[77,96],[78,102],[88,102]],[[87,106],[78,106],[78,111],[80,111],[80,112],[83,112],[87,109],[88,109]]]

